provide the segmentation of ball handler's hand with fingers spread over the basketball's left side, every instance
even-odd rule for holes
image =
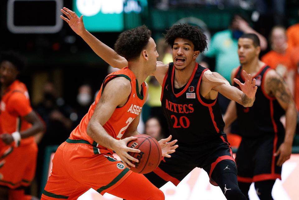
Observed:
[[[130,147],[127,147],[127,144],[131,140],[135,140],[137,137],[131,136],[128,138],[124,138],[121,140],[116,140],[115,144],[113,145],[113,150],[115,153],[121,158],[121,161],[124,163],[124,165],[127,168],[130,168],[130,166],[135,167],[133,163],[131,163],[131,160],[134,162],[139,162],[138,159],[135,159],[134,157],[130,156],[128,152],[134,152],[134,153],[140,153],[139,149],[133,149]]]

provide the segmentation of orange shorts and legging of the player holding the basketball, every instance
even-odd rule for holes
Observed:
[[[112,191],[129,176],[132,177],[131,184],[127,183],[125,186],[125,191],[129,196],[124,195],[123,197],[134,195],[132,184],[138,185],[139,183],[143,190],[146,190],[145,193],[148,190],[153,193],[161,192],[142,174],[133,173],[129,168],[125,168],[124,164],[114,159],[112,155],[94,154],[93,146],[89,144],[64,142],[58,147],[52,162],[52,173],[41,199],[73,200],[90,188],[101,194],[106,192],[113,194]],[[140,194],[140,196],[142,195]],[[143,198],[139,197],[139,199]]]

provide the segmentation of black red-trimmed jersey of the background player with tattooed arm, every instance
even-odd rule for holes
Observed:
[[[285,111],[278,101],[267,95],[264,90],[264,76],[269,70],[271,68],[265,65],[253,77],[256,79],[255,85],[258,86],[253,106],[244,108],[242,105],[236,104],[237,121],[242,136],[258,137],[260,134],[284,133],[280,117],[285,114]],[[244,83],[241,72],[242,66],[237,69],[235,78]],[[234,86],[240,89],[236,83]]]

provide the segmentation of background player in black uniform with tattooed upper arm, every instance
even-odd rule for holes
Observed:
[[[232,71],[232,79],[244,82],[245,70],[256,79],[256,100],[250,108],[230,102],[224,115],[225,125],[237,120],[242,141],[236,155],[238,181],[248,197],[252,182],[261,200],[273,199],[276,178],[281,179],[282,163],[290,158],[296,127],[294,100],[282,77],[259,60],[260,44],[255,34],[244,34],[238,41],[241,66]],[[236,85],[237,86],[237,85]],[[286,115],[284,130],[280,117]]]

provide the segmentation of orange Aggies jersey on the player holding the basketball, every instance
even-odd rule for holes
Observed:
[[[97,103],[101,99],[101,95],[105,85],[107,84],[108,81],[112,80],[117,76],[123,76],[128,80],[130,80],[132,90],[126,104],[120,108],[116,108],[112,116],[110,117],[110,119],[106,122],[106,124],[103,125],[103,128],[107,131],[109,135],[111,135],[115,139],[121,139],[122,135],[125,133],[126,129],[131,124],[131,122],[138,115],[140,115],[142,106],[145,103],[145,98],[144,98],[146,94],[145,83],[144,82],[142,83],[142,90],[140,94],[138,89],[138,81],[135,77],[135,74],[128,67],[113,72],[105,78],[101,86],[101,89],[97,94],[95,102],[93,102],[93,104],[90,106],[88,113],[82,118],[80,124],[72,131],[69,137],[69,139],[73,139],[73,140],[81,139],[81,140],[85,140],[85,142],[82,141],[83,143],[86,143],[87,141],[89,144],[92,144],[94,146],[93,151],[95,154],[113,153],[112,149],[107,149],[106,147],[97,144],[97,142],[95,142],[91,137],[87,135],[86,130],[87,130],[87,125],[89,123],[89,120],[91,119],[93,112],[97,106]],[[115,95],[117,98],[117,94]]]

